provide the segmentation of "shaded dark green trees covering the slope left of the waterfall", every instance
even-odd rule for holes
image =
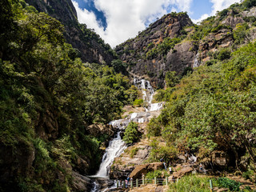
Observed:
[[[68,165],[89,174],[101,161],[102,137],[87,126],[119,117],[136,90],[82,63],[54,18],[22,1],[0,7],[0,191],[67,191]]]

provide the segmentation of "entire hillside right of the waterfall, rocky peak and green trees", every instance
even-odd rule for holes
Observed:
[[[188,173],[200,174],[202,164],[207,174],[237,174],[256,182],[255,6],[254,1],[234,4],[198,26],[185,26],[186,34],[161,38],[161,29],[170,27],[162,21],[178,15],[187,18],[184,13],[168,14],[138,37],[117,46],[131,73],[144,74],[158,87],[157,83],[165,82],[154,99],[166,104],[159,116],[139,123],[142,137],[115,158],[110,177],[141,179],[144,174],[149,179],[155,175],[164,178],[165,170],[152,168],[162,159],[174,169],[170,178],[180,178],[179,170],[187,167]],[[161,35],[154,38],[152,30]],[[159,51],[165,39],[170,46],[162,54]],[[136,46],[138,42],[143,42],[144,48]],[[179,49],[184,45],[190,46]],[[132,47],[137,51],[133,53]],[[150,65],[150,70],[145,70]],[[190,182],[186,184],[190,188]],[[170,189],[177,191],[174,186]]]

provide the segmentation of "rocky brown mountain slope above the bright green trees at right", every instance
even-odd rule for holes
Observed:
[[[132,74],[144,74],[154,87],[162,87],[167,71],[184,75],[253,40],[255,16],[251,1],[236,3],[200,25],[194,25],[186,13],[171,13],[115,50]]]

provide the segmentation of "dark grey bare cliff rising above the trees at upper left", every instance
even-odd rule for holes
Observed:
[[[111,47],[106,44],[93,30],[87,29],[85,24],[79,24],[76,10],[70,0],[26,0],[39,12],[45,12],[62,22],[66,32],[66,42],[78,50],[83,62],[97,62],[110,64],[114,55]]]

